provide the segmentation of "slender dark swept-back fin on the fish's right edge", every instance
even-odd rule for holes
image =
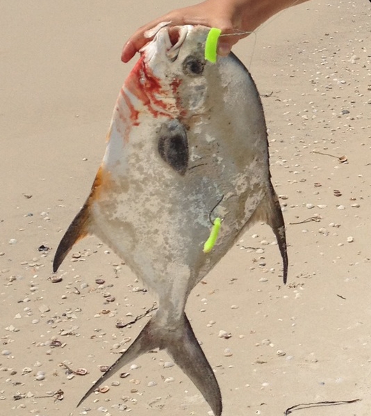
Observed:
[[[288,273],[288,255],[285,221],[283,220],[281,205],[279,205],[277,193],[274,191],[272,184],[270,184],[268,193],[265,195],[265,198],[261,201],[260,205],[254,212],[251,221],[264,221],[272,228],[272,231],[274,232],[277,243],[279,245],[279,252],[281,253],[282,257],[283,283],[286,285]]]

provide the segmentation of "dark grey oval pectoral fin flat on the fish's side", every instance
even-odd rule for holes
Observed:
[[[158,153],[180,175],[188,168],[188,140],[186,129],[179,120],[172,120],[160,127]]]

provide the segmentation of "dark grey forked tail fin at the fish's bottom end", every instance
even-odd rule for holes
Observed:
[[[172,330],[159,326],[156,315],[151,318],[133,344],[129,346],[129,349],[90,387],[77,406],[80,406],[101,383],[119,371],[124,365],[156,348],[165,349],[169,353],[176,365],[199,389],[209,406],[211,406],[214,415],[222,415],[222,397],[219,385],[204,351],[199,346],[186,314],[183,314],[181,323]]]

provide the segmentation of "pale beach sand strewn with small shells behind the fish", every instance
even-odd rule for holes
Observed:
[[[290,267],[283,287],[274,236],[256,225],[190,295],[188,317],[215,369],[225,416],[352,399],[361,401],[292,414],[371,413],[370,2],[328,3],[287,10],[235,49],[269,95],[263,104]],[[163,352],[142,356],[137,369],[123,369],[129,376],[113,376],[106,394],[76,409],[98,366],[114,362],[147,318],[131,328],[116,322],[131,321],[154,298],[94,237],[67,257],[61,282],[49,279],[133,65],[119,61],[123,42],[181,5],[0,1],[2,415],[210,412],[176,366],[164,367]],[[39,252],[42,245],[50,249]],[[89,374],[69,379],[61,363]],[[58,390],[63,400],[46,397]]]

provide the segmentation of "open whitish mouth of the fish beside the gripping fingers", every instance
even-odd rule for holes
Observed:
[[[155,54],[163,54],[170,61],[176,61],[184,40],[192,26],[170,26],[171,22],[162,22],[145,32],[145,38],[153,38],[140,53],[145,52],[146,60],[151,61]],[[155,46],[156,45],[156,46]]]

